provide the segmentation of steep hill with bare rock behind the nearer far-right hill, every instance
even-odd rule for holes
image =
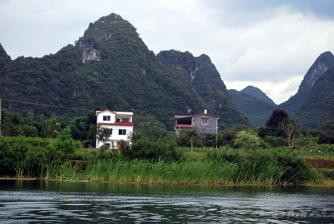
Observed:
[[[281,103],[278,107],[285,109],[290,116],[294,117],[301,109],[302,104],[307,101],[313,84],[320,75],[332,66],[334,66],[333,54],[330,51],[320,54],[305,74],[298,92],[294,96],[291,96],[287,101]]]

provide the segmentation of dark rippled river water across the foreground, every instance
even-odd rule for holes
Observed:
[[[334,188],[0,180],[0,223],[334,223]]]

